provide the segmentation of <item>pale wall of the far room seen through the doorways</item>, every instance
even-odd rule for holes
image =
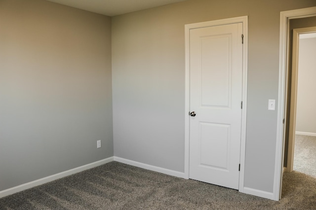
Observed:
[[[316,38],[299,43],[296,127],[299,132],[316,133]]]

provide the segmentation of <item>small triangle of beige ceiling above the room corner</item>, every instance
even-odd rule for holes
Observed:
[[[75,8],[116,16],[185,0],[49,0]]]

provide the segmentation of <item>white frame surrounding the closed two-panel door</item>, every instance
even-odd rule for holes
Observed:
[[[184,174],[189,178],[189,151],[190,151],[190,29],[218,26],[224,24],[243,23],[242,46],[242,111],[241,111],[241,141],[240,141],[240,174],[239,192],[243,192],[244,163],[246,148],[246,111],[247,111],[247,64],[248,64],[248,16],[228,18],[223,20],[208,21],[185,25],[185,153]],[[240,37],[241,41],[241,37]]]

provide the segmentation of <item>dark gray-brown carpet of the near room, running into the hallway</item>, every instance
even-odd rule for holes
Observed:
[[[316,179],[285,173],[279,202],[111,162],[0,199],[1,210],[315,210]]]

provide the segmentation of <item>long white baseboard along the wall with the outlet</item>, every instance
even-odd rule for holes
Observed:
[[[101,166],[101,165],[106,164],[106,163],[110,163],[113,161],[113,159],[114,159],[113,157],[109,157],[109,158],[106,158],[103,160],[89,163],[89,164],[84,165],[84,166],[77,167],[75,169],[71,169],[71,170],[61,172],[61,173],[58,173],[55,175],[46,176],[46,177],[31,181],[31,182],[28,182],[25,184],[21,184],[21,185],[18,185],[18,186],[9,188],[9,189],[2,190],[2,191],[0,191],[0,198],[11,195],[13,193],[20,192],[22,190],[26,190],[26,189],[50,182],[50,181],[53,181],[53,180],[56,180],[56,179],[59,179],[59,178],[62,178],[62,177],[65,177],[65,176],[68,176],[68,175],[73,175],[73,174],[82,172],[82,171],[87,170],[87,169],[92,169],[94,167]]]

